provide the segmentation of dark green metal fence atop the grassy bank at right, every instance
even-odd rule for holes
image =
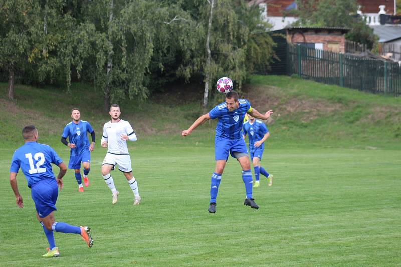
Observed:
[[[288,45],[287,74],[373,93],[401,95],[398,63]]]

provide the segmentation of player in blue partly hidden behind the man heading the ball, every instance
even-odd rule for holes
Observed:
[[[255,184],[253,187],[259,187],[259,175],[262,174],[268,179],[269,186],[272,186],[273,175],[269,174],[261,165],[263,150],[265,149],[264,142],[269,138],[270,133],[265,123],[255,119],[253,116],[248,115],[248,121],[242,126],[242,136],[245,140],[245,136],[248,134],[249,140],[249,154],[251,155],[252,164],[255,171]]]

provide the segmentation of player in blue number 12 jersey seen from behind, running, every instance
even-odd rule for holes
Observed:
[[[93,239],[89,227],[55,222],[53,213],[57,210],[58,187],[60,190],[63,188],[62,178],[67,172],[67,166],[50,146],[37,143],[38,130],[35,126],[24,127],[22,135],[25,144],[14,152],[10,166],[10,184],[16,196],[17,205],[22,208],[23,200],[17,186],[17,173],[21,168],[28,181],[28,187],[31,188],[31,196],[37,212],[36,217],[49,242],[48,252],[43,256],[58,257],[60,255],[54,241],[53,231],[80,234],[86,244],[92,247]],[[52,163],[60,168],[56,179],[52,172]]]

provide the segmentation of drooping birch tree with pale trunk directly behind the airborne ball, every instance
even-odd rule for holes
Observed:
[[[228,76],[240,90],[254,64],[269,64],[274,42],[267,34],[270,25],[262,21],[258,6],[237,0],[183,0],[181,6],[203,28],[199,30],[199,42],[205,44],[205,52],[195,52],[192,58],[199,62],[204,77],[204,107],[213,80]]]

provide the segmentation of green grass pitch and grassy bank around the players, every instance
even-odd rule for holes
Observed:
[[[255,91],[266,88],[269,99],[279,99],[269,103],[278,112],[275,123],[269,126],[272,136],[262,160],[262,165],[275,178],[273,186],[267,187],[261,176],[261,187],[254,190],[259,210],[243,205],[245,189],[241,169],[230,159],[219,188],[217,213],[209,214],[214,125],[205,125],[181,139],[177,133],[183,126],[189,126],[196,112],[183,121],[179,116],[196,104],[174,108],[150,103],[163,114],[153,116],[153,120],[149,118],[153,125],[150,133],[143,130],[149,125],[139,123],[142,126],[142,129],[138,127],[139,140],[129,145],[142,203],[132,205],[133,194],[127,182],[119,171],[114,171],[120,197],[116,205],[111,204],[111,192],[100,173],[105,150],[97,145],[92,153],[90,186],[84,193],[78,193],[73,172],[68,171],[55,212],[56,221],[90,226],[94,245],[89,249],[79,236],[55,233],[61,256],[51,259],[41,257],[46,252],[47,241],[35,218],[23,175],[18,176],[23,209],[15,205],[8,182],[11,155],[22,144],[18,124],[21,122],[13,122],[12,118],[23,118],[27,113],[20,113],[21,110],[38,112],[32,116],[40,114],[45,119],[45,122],[37,121],[43,128],[43,139],[68,162],[69,151],[60,143],[60,133],[51,132],[46,123],[57,127],[65,124],[68,116],[64,119],[59,116],[68,114],[71,104],[60,102],[57,110],[46,110],[48,103],[35,108],[36,105],[30,107],[17,94],[16,109],[2,118],[0,131],[2,143],[8,142],[0,148],[0,176],[3,177],[0,265],[400,265],[401,145],[396,131],[400,126],[397,124],[400,99],[335,86],[325,87],[324,93],[317,83],[291,78],[255,77],[252,82]],[[263,87],[263,83],[269,86]],[[29,89],[43,90],[21,90],[26,94]],[[62,92],[55,94],[59,96]],[[339,94],[341,100],[338,100]],[[317,111],[300,107],[302,112],[295,114],[286,108],[286,103],[294,97],[302,98],[303,106],[310,102],[326,106],[339,103],[340,106]],[[96,101],[91,104],[95,105]],[[383,109],[386,106],[394,108],[388,111]],[[365,121],[372,118],[372,112],[377,114],[377,110],[386,116],[375,123]],[[314,115],[314,119],[302,122],[305,113]],[[94,121],[96,129],[107,118],[107,115],[97,117],[94,111],[89,114],[88,120]],[[172,114],[178,114],[178,118]],[[169,129],[164,124],[166,117],[171,117],[178,129]],[[330,126],[330,121],[335,126]],[[13,131],[18,134],[11,136]],[[10,136],[6,138],[5,134]]]

